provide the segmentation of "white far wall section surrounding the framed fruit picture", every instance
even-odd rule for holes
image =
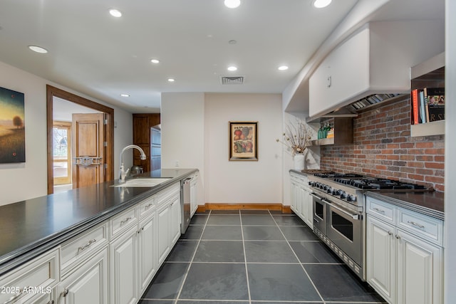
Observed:
[[[205,186],[208,203],[281,203],[281,95],[205,95]],[[230,162],[229,121],[258,122],[257,162]]]

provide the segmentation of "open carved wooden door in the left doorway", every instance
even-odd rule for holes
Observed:
[[[73,189],[105,182],[104,114],[73,114]]]

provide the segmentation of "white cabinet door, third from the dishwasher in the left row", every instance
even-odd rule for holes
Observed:
[[[157,223],[155,212],[140,222],[138,265],[139,294],[142,294],[157,272]]]

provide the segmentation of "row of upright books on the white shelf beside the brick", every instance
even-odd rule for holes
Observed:
[[[445,119],[445,88],[412,90],[412,125]]]

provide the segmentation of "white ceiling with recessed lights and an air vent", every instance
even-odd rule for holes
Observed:
[[[311,0],[242,0],[228,9],[223,0],[1,0],[0,61],[130,112],[160,112],[163,92],[282,93],[356,2],[314,9]],[[375,18],[443,11],[444,0],[392,0]],[[277,70],[284,64],[289,70]],[[222,85],[222,75],[244,84]]]

